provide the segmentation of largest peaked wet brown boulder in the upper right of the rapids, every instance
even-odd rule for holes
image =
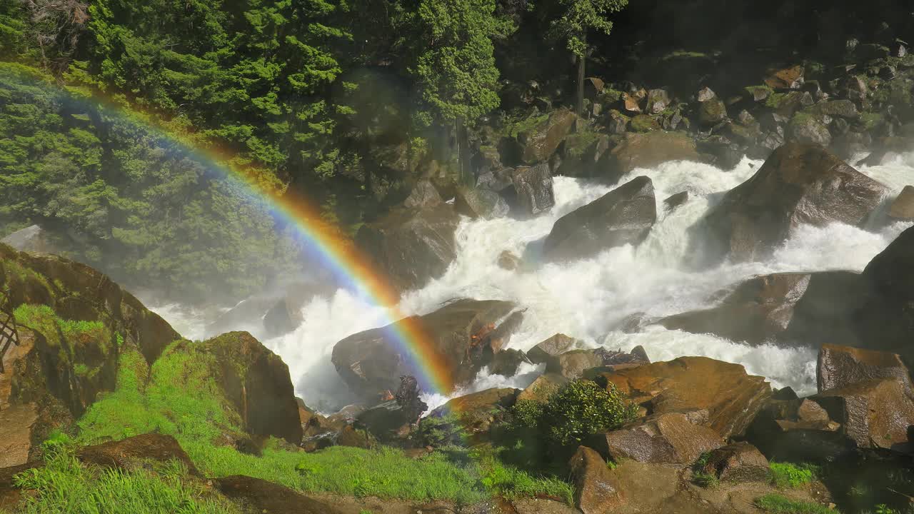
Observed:
[[[711,209],[707,226],[731,258],[755,260],[801,224],[863,224],[885,193],[821,146],[789,143]]]

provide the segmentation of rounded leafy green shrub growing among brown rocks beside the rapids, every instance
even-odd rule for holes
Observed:
[[[612,383],[574,380],[549,397],[539,418],[540,429],[558,444],[578,443],[590,434],[615,430],[632,421],[638,406],[626,402]]]

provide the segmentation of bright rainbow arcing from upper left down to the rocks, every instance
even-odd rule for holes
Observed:
[[[174,130],[170,130],[154,115],[139,112],[125,101],[81,88],[61,90],[53,80],[37,75],[25,66],[5,66],[0,68],[0,74],[6,75],[11,68],[16,70],[18,80],[30,80],[42,87],[65,91],[74,102],[80,102],[86,108],[99,108],[108,115],[142,126],[155,136],[177,145],[187,155],[207,166],[207,169],[216,171],[221,177],[237,184],[253,201],[270,211],[274,219],[294,227],[307,249],[318,256],[337,280],[368,303],[384,309],[387,332],[401,353],[409,359],[411,368],[420,374],[417,379],[425,391],[448,394],[454,390],[452,373],[440,352],[430,344],[431,339],[418,317],[404,316],[399,311],[399,293],[388,284],[383,273],[379,273],[351,241],[321,220],[320,212],[306,198],[293,194],[282,185],[254,179],[257,174],[251,173],[253,166],[239,158],[239,155],[203,142],[196,134],[175,134]]]

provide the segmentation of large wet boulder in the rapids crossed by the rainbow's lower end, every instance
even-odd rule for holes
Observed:
[[[403,348],[396,334],[404,330],[420,333],[437,369],[446,372],[451,385],[473,380],[494,354],[491,347],[496,324],[514,310],[510,302],[463,299],[424,316],[410,316],[392,326],[373,328],[336,343],[332,361],[349,387],[365,398],[380,391],[395,391],[399,377],[422,377],[409,348]]]

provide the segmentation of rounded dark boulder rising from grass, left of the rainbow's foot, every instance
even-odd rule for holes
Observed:
[[[182,341],[181,345],[194,345]],[[180,348],[175,348],[180,351]],[[302,423],[289,367],[247,332],[229,332],[202,343],[211,354],[218,387],[239,412],[242,428],[255,436],[275,436],[292,444],[302,441]]]

